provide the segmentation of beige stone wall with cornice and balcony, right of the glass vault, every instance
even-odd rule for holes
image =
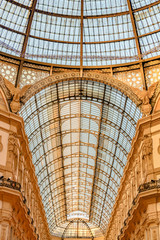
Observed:
[[[160,239],[160,111],[137,124],[106,240]]]

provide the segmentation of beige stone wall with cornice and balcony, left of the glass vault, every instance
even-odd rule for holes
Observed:
[[[0,240],[50,240],[21,117],[0,108]]]

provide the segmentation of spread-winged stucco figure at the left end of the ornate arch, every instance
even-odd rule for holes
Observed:
[[[4,81],[6,87],[13,97],[12,102],[10,103],[11,110],[13,113],[17,113],[21,108],[20,99],[25,95],[25,92],[28,90],[28,88],[30,88],[31,85],[26,85],[20,89],[19,85],[17,88],[15,88],[15,86],[7,79],[4,79]]]

